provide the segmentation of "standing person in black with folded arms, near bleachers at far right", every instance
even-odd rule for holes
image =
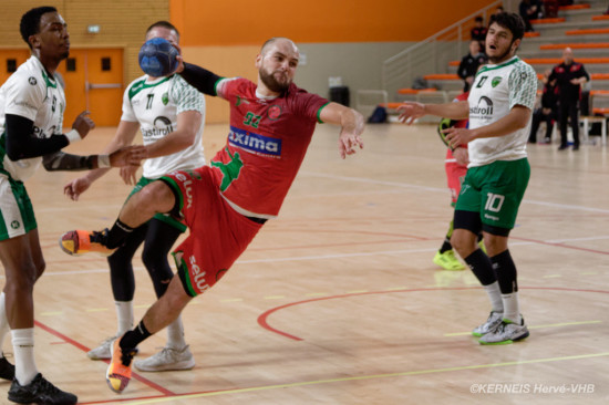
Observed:
[[[555,66],[548,80],[556,80],[558,86],[558,103],[560,117],[560,147],[567,148],[567,121],[571,120],[574,132],[574,150],[579,149],[579,101],[581,100],[581,85],[590,80],[588,72],[581,63],[574,61],[574,51],[565,48],[562,63]]]

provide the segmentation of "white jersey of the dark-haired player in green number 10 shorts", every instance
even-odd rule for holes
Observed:
[[[469,128],[486,126],[506,116],[515,105],[533,111],[537,95],[537,74],[518,56],[476,73],[469,90]],[[505,136],[474,139],[467,146],[469,166],[488,165],[496,160],[516,160],[527,156],[526,145],[530,120],[526,127]]]

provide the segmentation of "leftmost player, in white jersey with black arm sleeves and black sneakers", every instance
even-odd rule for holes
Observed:
[[[0,347],[10,326],[16,361],[13,367],[0,357],[0,377],[12,380],[8,393],[12,402],[75,404],[76,396],[48,382],[34,362],[33,287],[45,264],[23,181],[41,163],[48,170],[83,170],[137,164],[141,157],[130,160],[128,149],[110,156],[61,152],[94,127],[84,112],[72,131],[62,134],[65,95],[54,73],[70,53],[66,23],[55,8],[39,7],[22,15],[20,31],[32,56],[0,87],[0,261],[6,274],[0,293]]]

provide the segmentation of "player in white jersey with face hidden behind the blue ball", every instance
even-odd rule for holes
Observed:
[[[146,40],[164,38],[178,43],[179,33],[166,21],[152,24],[146,31]],[[130,197],[146,184],[175,170],[190,170],[205,165],[202,136],[205,118],[205,98],[179,75],[168,77],[141,76],[133,81],[123,96],[123,115],[115,137],[106,147],[114,150],[130,145],[141,129],[147,159],[143,165],[143,176],[136,183]],[[125,183],[135,183],[136,166],[123,168]],[[87,173],[65,186],[65,193],[78,199],[90,185],[107,169]],[[174,273],[167,255],[186,226],[169,215],[157,215],[151,221],[135,229],[125,245],[107,258],[112,292],[114,295],[117,331],[102,344],[87,353],[92,360],[111,359],[111,343],[133,328],[133,295],[135,280],[132,260],[137,248],[144,242],[142,260],[148,271],[157,297],[163,295]],[[134,365],[141,371],[188,370],[195,360],[184,340],[182,320],[178,318],[167,326],[166,346],[152,357],[140,360]]]

